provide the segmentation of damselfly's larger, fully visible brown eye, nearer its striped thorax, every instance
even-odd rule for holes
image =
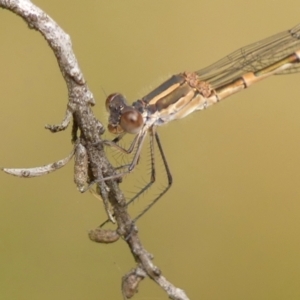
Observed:
[[[142,115],[132,107],[127,107],[122,111],[120,125],[124,131],[132,134],[138,133],[143,127]]]

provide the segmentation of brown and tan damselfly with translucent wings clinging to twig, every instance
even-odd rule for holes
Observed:
[[[114,176],[116,179],[130,173],[137,165],[147,133],[150,133],[151,152],[154,140],[168,177],[168,186],[136,218],[149,210],[172,184],[172,176],[156,132],[172,120],[181,119],[193,111],[203,110],[212,104],[237,93],[253,83],[271,75],[290,74],[300,70],[300,24],[291,30],[241,48],[218,62],[196,72],[183,72],[172,76],[145,97],[128,105],[121,94],[112,94],[106,100],[109,112],[108,130],[118,136],[105,144],[123,153],[135,151],[131,163]],[[135,134],[128,149],[118,142],[127,133]],[[151,155],[151,180],[129,203],[134,201],[155,181],[154,156]]]

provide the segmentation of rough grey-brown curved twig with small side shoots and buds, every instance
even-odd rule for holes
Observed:
[[[73,117],[72,141],[75,142],[70,155],[56,163],[31,169],[3,168],[3,171],[19,177],[46,175],[63,167],[75,152],[75,183],[80,191],[84,189],[85,183],[113,176],[115,170],[103,151],[101,134],[104,128],[91,110],[91,106],[95,104],[93,94],[79,68],[69,35],[45,12],[28,0],[0,0],[0,7],[22,17],[29,28],[39,31],[44,36],[53,50],[67,85],[69,102],[63,121],[58,125],[46,125],[46,128],[51,132],[62,131],[67,128]],[[79,136],[77,136],[78,132]],[[100,181],[96,192],[105,205],[110,202],[118,228],[115,231],[97,228],[89,233],[90,239],[100,243],[113,243],[122,237],[136,262],[135,268],[122,279],[124,298],[134,296],[141,280],[148,276],[159,284],[171,299],[188,299],[184,291],[167,281],[161,275],[159,268],[153,264],[152,255],[143,247],[138,237],[137,227],[127,213],[125,197],[119,189],[118,182]]]

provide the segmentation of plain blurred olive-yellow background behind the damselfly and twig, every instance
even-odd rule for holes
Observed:
[[[171,74],[300,22],[296,0],[35,3],[70,34],[104,122],[103,90],[133,101]],[[70,128],[44,129],[62,120],[67,104],[54,55],[6,10],[0,39],[0,166],[65,157]],[[138,222],[140,237],[191,299],[300,299],[299,81],[300,74],[275,76],[159,128],[174,185]],[[99,200],[76,190],[72,171],[69,163],[36,179],[0,173],[1,299],[122,299],[120,278],[133,259],[123,241],[88,240],[106,216]],[[130,196],[147,174],[141,165],[122,188]],[[141,197],[133,214],[155,193]],[[148,279],[134,299],[167,296]]]

